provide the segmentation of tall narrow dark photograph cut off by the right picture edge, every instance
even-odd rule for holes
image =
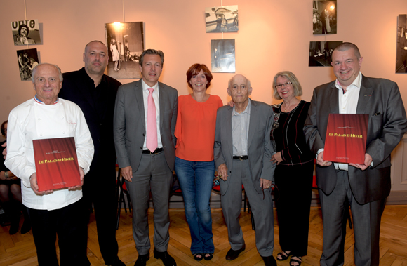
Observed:
[[[407,15],[397,17],[396,73],[407,73]]]

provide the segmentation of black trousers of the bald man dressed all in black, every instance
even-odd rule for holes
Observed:
[[[93,203],[100,253],[105,263],[109,265],[117,260],[119,251],[116,240],[116,168],[113,165],[112,168],[99,166],[94,169],[91,168],[85,175],[82,192],[86,206]]]

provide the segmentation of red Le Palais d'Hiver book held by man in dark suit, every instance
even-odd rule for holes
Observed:
[[[364,164],[368,114],[329,114],[323,160]]]

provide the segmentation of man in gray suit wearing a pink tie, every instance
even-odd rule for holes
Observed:
[[[176,265],[167,247],[178,93],[158,82],[163,64],[163,52],[144,51],[139,61],[142,79],[119,87],[114,109],[117,161],[133,202],[133,237],[138,251],[135,265],[146,265],[149,260],[150,190],[154,204],[154,258],[166,266]]]

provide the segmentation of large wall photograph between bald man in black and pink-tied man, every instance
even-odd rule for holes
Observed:
[[[114,79],[142,77],[138,60],[144,51],[143,22],[114,22],[105,24],[109,63],[107,75]]]

